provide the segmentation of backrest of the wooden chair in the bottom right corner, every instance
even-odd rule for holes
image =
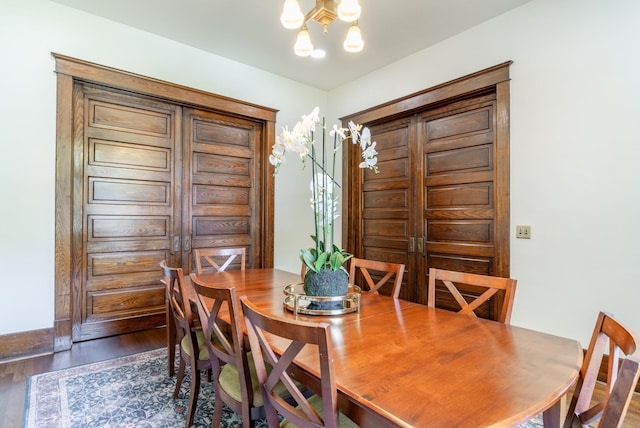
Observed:
[[[565,428],[586,427],[598,419],[599,427],[622,426],[640,377],[638,340],[610,314],[600,312],[569,404]],[[602,399],[593,403],[593,391],[606,351],[609,352],[607,388]],[[621,360],[621,353],[626,358]]]

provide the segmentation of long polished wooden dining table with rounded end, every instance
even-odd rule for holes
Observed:
[[[559,427],[582,364],[577,340],[364,291],[358,311],[296,314],[283,290],[300,275],[279,269],[199,277],[270,316],[330,324],[339,406],[360,426],[517,427],[542,413]],[[318,379],[312,351],[295,363]]]

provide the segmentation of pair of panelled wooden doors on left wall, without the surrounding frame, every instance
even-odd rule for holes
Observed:
[[[264,124],[77,82],[73,341],[164,324],[161,260],[245,247],[262,267]]]

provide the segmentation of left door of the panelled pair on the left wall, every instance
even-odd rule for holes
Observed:
[[[179,230],[177,106],[76,85],[73,340],[164,323],[160,260]],[[178,187],[179,188],[179,187]]]

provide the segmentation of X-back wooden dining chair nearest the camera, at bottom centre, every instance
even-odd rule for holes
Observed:
[[[252,357],[260,383],[267,422],[270,427],[356,427],[338,411],[338,393],[333,373],[333,344],[330,325],[294,319],[274,318],[260,312],[246,297],[240,298]],[[286,349],[276,354],[270,340],[286,339]],[[308,396],[301,389],[308,379],[294,379],[294,359],[305,348],[317,354],[320,367],[320,394]],[[268,367],[272,369],[268,371]],[[287,399],[276,389],[282,384]],[[310,388],[311,389],[311,388]],[[278,415],[284,417],[278,421]]]

